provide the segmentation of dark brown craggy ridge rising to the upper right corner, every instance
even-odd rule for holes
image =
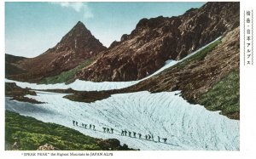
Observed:
[[[206,3],[177,17],[140,20],[76,77],[97,82],[147,77],[166,60],[180,60],[239,26],[239,12],[239,3]]]

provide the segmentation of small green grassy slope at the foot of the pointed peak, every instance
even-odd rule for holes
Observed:
[[[94,60],[95,60],[95,58],[90,58],[88,60],[84,60],[84,62],[82,64],[76,66],[72,70],[63,71],[63,72],[61,72],[60,75],[56,75],[54,77],[45,77],[39,83],[40,84],[55,84],[55,83],[61,83],[61,82],[67,82],[67,83],[73,82],[76,73],[79,70],[81,70],[82,68],[84,68],[86,65],[90,65]]]

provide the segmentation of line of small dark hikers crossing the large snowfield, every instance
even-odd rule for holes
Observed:
[[[79,126],[79,122],[73,120],[73,126]],[[83,128],[87,128],[87,126],[89,126],[88,127],[89,129],[96,130],[96,126],[95,125],[92,125],[92,124],[87,125],[87,124],[82,123],[82,127]],[[102,127],[102,129],[103,129],[104,133],[113,133],[113,128]],[[131,136],[131,132],[130,131],[126,131],[126,130],[122,130],[121,136],[127,136],[127,133],[128,133],[129,137],[132,137]],[[132,133],[133,133],[133,137],[134,138],[136,138],[137,135],[138,135],[138,138],[142,139],[142,133],[136,133],[136,132],[132,132]],[[157,138],[158,138],[158,142],[160,142],[160,136],[157,136]],[[151,135],[150,134],[146,134],[145,135],[145,139],[154,141],[154,136],[153,136],[153,134],[151,134]],[[163,141],[166,144],[167,138],[163,138]]]

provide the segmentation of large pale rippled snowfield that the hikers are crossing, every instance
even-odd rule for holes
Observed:
[[[239,121],[201,105],[191,105],[178,94],[150,94],[147,91],[114,94],[94,103],[73,102],[66,94],[37,92],[32,99],[47,102],[33,105],[6,98],[6,110],[32,116],[43,122],[55,122],[96,138],[119,139],[122,144],[140,150],[239,150]],[[73,120],[96,125],[96,131],[73,126]],[[103,133],[102,127],[114,128]],[[121,129],[143,134],[143,139],[121,136]],[[167,138],[167,144],[148,141],[145,134]],[[161,142],[163,140],[161,139]]]

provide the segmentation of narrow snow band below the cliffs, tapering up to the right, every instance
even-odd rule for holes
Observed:
[[[219,38],[215,39],[212,43],[217,41]],[[206,48],[211,43],[208,43],[206,46],[199,48],[195,52],[189,54],[182,60],[167,60],[166,65],[160,68],[160,70],[155,71],[152,75],[145,77],[138,81],[130,81],[130,82],[90,82],[90,81],[81,81],[76,80],[73,83],[65,84],[65,83],[56,83],[56,84],[37,84],[37,83],[29,83],[29,82],[17,82],[9,79],[5,79],[5,82],[15,82],[20,88],[32,88],[32,89],[67,89],[73,88],[74,90],[87,90],[87,91],[100,91],[100,90],[110,90],[110,89],[119,89],[119,88],[127,88],[129,86],[135,85],[138,82],[141,82],[149,77],[153,77],[154,75],[160,73],[161,71],[166,70],[167,68],[171,67],[172,65],[177,64],[178,62],[182,62],[183,60],[188,59],[193,54],[198,53],[201,49]]]

